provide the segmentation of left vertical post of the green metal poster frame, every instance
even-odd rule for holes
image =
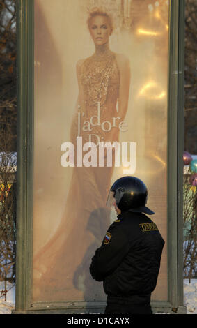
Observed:
[[[17,0],[17,260],[16,310],[31,301],[33,249],[33,7]]]

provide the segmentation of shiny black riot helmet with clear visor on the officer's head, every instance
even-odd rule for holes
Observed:
[[[148,191],[140,179],[136,177],[122,177],[111,186],[107,199],[107,206],[116,204],[121,211],[132,210],[146,214],[155,214],[145,206]]]

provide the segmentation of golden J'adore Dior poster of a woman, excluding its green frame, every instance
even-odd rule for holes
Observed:
[[[106,299],[89,266],[124,174],[166,235],[168,1],[150,2],[35,0],[33,301]]]

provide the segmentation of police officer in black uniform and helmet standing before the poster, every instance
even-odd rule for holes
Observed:
[[[145,214],[148,191],[140,179],[122,177],[109,192],[107,206],[115,206],[117,220],[95,251],[90,274],[103,281],[105,314],[152,314],[150,297],[157,284],[164,240]]]

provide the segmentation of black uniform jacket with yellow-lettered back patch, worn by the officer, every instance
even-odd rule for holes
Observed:
[[[164,240],[148,216],[119,214],[95,252],[90,274],[110,297],[149,295],[155,289]]]

